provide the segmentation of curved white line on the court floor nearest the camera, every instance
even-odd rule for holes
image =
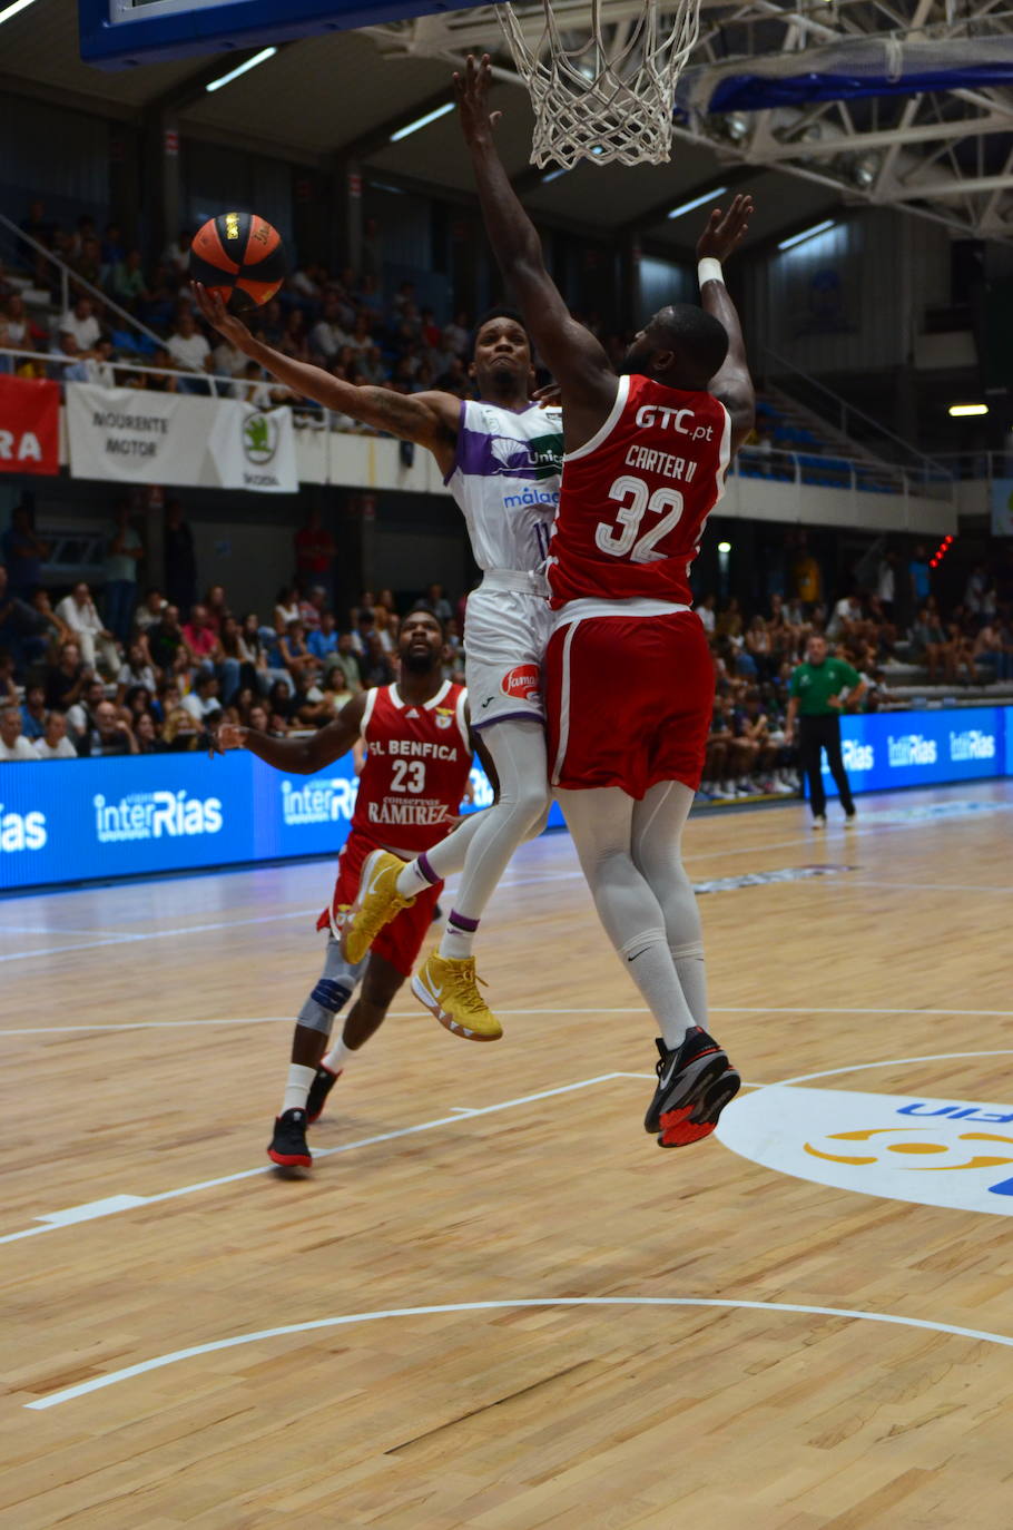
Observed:
[[[222,1349],[236,1349],[246,1343],[260,1343],[265,1339],[280,1339],[301,1333],[318,1333],[323,1328],[346,1328],[353,1323],[379,1322],[387,1317],[425,1317],[433,1314],[442,1316],[447,1313],[480,1313],[502,1311],[505,1308],[517,1310],[546,1307],[705,1307],[722,1311],[773,1311],[816,1317],[845,1317],[860,1322],[889,1323],[898,1328],[918,1328],[927,1333],[943,1333],[952,1334],[958,1339],[970,1339],[978,1343],[984,1342],[1001,1345],[1004,1348],[1013,1348],[1013,1337],[992,1333],[987,1328],[963,1328],[958,1323],[938,1323],[927,1317],[903,1317],[900,1313],[869,1313],[848,1307],[811,1307],[803,1302],[751,1302],[745,1299],[736,1300],[733,1297],[705,1296],[536,1296],[490,1302],[450,1302],[433,1307],[390,1307],[379,1311],[347,1313],[340,1317],[315,1317],[305,1323],[285,1323],[278,1328],[262,1328],[257,1333],[234,1334],[231,1339],[211,1339],[205,1343],[190,1345],[185,1349],[171,1349],[167,1354],[155,1356],[151,1360],[139,1360],[135,1365],[122,1366],[119,1371],[110,1371],[106,1375],[95,1375],[87,1382],[78,1382],[77,1386],[66,1386],[60,1392],[50,1392],[47,1397],[35,1398],[34,1401],[23,1403],[21,1406],[34,1412],[41,1412],[47,1408],[58,1408],[61,1403],[73,1401],[77,1397],[103,1391],[107,1386],[116,1386],[119,1382],[129,1382],[133,1377],[145,1375],[150,1371],[165,1369],[170,1365],[178,1365],[181,1360],[193,1360],[202,1354],[217,1354]]]

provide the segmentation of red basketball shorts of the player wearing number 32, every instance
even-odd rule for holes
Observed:
[[[715,704],[699,617],[581,617],[552,633],[545,676],[554,786],[696,791]]]

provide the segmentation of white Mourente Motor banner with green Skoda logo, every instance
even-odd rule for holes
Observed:
[[[67,384],[70,474],[121,483],[298,490],[292,415],[237,399]]]

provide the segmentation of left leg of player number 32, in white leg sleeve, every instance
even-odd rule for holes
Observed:
[[[644,996],[666,1047],[679,1047],[693,1014],[669,950],[663,907],[634,861],[638,803],[618,786],[557,796],[604,932]]]

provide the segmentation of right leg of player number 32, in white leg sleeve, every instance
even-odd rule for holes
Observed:
[[[693,1022],[707,1030],[707,972],[699,909],[682,866],[682,826],[693,793],[682,782],[652,786],[634,806],[634,863],[661,906],[669,950]]]

